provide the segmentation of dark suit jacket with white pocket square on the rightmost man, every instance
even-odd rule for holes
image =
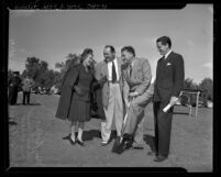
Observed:
[[[172,96],[178,97],[184,87],[183,56],[172,52],[166,59],[158,60],[154,88],[154,101],[168,102]]]

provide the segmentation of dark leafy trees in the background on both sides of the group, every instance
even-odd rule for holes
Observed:
[[[33,90],[38,87],[49,90],[53,86],[60,89],[62,79],[68,68],[77,65],[80,62],[80,56],[76,54],[68,54],[65,62],[56,63],[55,68],[59,71],[48,69],[48,63],[32,56],[27,57],[25,62],[25,69],[21,74],[21,78],[30,76],[34,80]],[[8,71],[8,79],[12,77],[13,70]],[[184,89],[200,90],[200,98],[202,101],[213,101],[213,81],[211,78],[203,78],[199,84],[194,82],[194,79],[186,78]],[[195,96],[191,96],[191,101],[195,101]]]

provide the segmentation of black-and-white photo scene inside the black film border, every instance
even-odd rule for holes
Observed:
[[[8,9],[9,167],[213,172],[213,4]]]

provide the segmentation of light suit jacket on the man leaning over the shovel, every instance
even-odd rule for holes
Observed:
[[[139,92],[139,96],[145,93],[152,80],[151,66],[145,58],[135,58],[131,77],[129,76],[129,66],[122,65],[123,73],[123,98],[129,99],[130,92]],[[148,92],[151,93],[150,89]],[[152,91],[153,92],[153,91]],[[153,95],[153,93],[152,93]]]

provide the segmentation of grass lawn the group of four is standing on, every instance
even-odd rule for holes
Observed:
[[[21,103],[19,95],[18,103]],[[146,155],[153,144],[152,103],[146,107],[144,150],[111,153],[113,141],[100,146],[100,120],[86,124],[86,147],[63,140],[69,122],[56,119],[57,96],[31,95],[32,106],[10,106],[10,166],[13,167],[183,167],[188,172],[212,172],[212,109],[199,108],[198,118],[188,108],[175,107],[170,155],[163,163]],[[195,111],[195,109],[192,110]],[[157,168],[156,168],[157,169]]]

